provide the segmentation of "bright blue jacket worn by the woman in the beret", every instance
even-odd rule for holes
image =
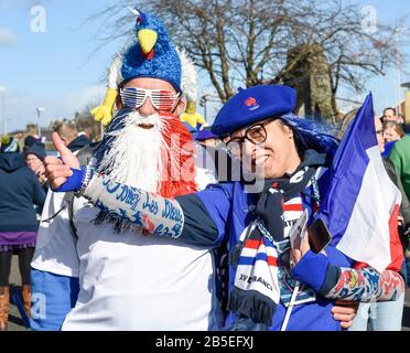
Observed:
[[[326,175],[327,173],[322,173],[319,179],[319,188],[322,195],[327,184]],[[310,211],[310,221],[313,218],[313,197],[309,196],[314,194],[312,189],[312,186],[306,188],[302,196],[303,208]],[[257,201],[255,194],[246,193],[240,182],[212,185],[194,195],[176,197],[176,200],[183,208],[185,222],[181,240],[197,245],[217,246],[227,236],[229,253],[239,242],[240,234],[252,221],[251,210],[256,206]],[[331,245],[325,248],[325,252],[332,265],[352,267],[354,263]],[[298,274],[292,272],[298,279],[310,280],[308,285],[315,290],[316,301],[295,306],[287,330],[338,331],[341,330],[341,324],[333,319],[331,312],[334,302],[317,293],[325,285],[322,279],[326,278],[328,261],[324,255],[312,254],[310,254],[310,264],[314,264],[313,266],[300,266],[303,261],[302,259],[294,268]],[[235,267],[229,267],[229,291],[234,288],[235,270]],[[306,281],[304,282],[306,284]],[[280,330],[285,310],[283,304],[278,304],[270,330]],[[235,314],[229,313],[226,327],[233,327],[236,320]],[[247,329],[251,328],[247,327]]]

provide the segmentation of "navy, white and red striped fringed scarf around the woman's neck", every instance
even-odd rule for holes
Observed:
[[[314,168],[304,165],[302,163],[290,178],[266,181],[256,218],[233,252],[231,261],[237,268],[229,310],[257,323],[271,325],[281,298],[279,278],[283,279],[283,274],[279,271],[278,257],[289,249],[287,213],[301,213],[301,203],[294,204],[292,200],[300,200],[300,193],[315,173]]]

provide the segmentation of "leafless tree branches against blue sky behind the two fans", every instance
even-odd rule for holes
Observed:
[[[104,23],[102,41],[132,32],[126,4],[117,1],[93,17]],[[380,22],[367,25],[362,8],[350,1],[150,0],[141,10],[164,21],[175,43],[207,73],[223,103],[238,86],[283,83],[306,55],[289,55],[295,47],[324,51],[333,103],[341,86],[360,92],[369,75],[382,75],[397,57],[396,29]]]

